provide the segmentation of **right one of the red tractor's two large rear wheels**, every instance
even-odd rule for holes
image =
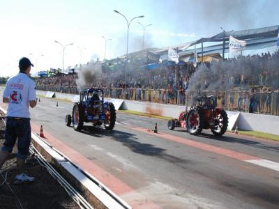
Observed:
[[[227,112],[222,109],[220,114],[216,118],[214,118],[214,127],[211,128],[211,132],[213,132],[216,136],[222,136],[227,131],[227,125],[229,123],[229,118],[227,117]]]

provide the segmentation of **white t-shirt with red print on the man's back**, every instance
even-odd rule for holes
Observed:
[[[36,100],[36,84],[25,73],[8,79],[3,97],[10,100],[7,116],[30,118],[29,101]]]

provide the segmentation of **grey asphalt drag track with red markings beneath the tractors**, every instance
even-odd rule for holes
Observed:
[[[133,208],[279,207],[278,142],[209,131],[195,137],[119,111],[113,131],[85,123],[75,132],[65,125],[73,103],[56,101],[40,98],[31,109],[33,130],[43,125],[50,144]],[[148,132],[155,123],[158,134]],[[273,169],[250,163],[262,159],[276,162]]]

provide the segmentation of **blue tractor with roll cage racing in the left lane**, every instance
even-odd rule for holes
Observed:
[[[66,125],[80,131],[85,123],[105,125],[105,130],[113,130],[116,111],[112,102],[104,102],[103,89],[89,88],[80,92],[80,101],[75,102],[72,115],[66,115]],[[100,99],[101,98],[101,99]]]

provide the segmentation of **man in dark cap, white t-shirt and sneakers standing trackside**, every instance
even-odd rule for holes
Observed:
[[[0,169],[11,153],[15,141],[17,140],[17,181],[31,182],[33,177],[27,176],[24,172],[24,164],[29,155],[29,146],[31,142],[31,126],[29,106],[35,107],[36,84],[29,77],[31,61],[23,57],[20,59],[20,72],[8,79],[5,91],[3,92],[3,102],[8,103],[6,117],[5,142],[0,152]]]

